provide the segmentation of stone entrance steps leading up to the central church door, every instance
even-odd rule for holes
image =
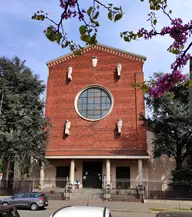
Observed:
[[[102,201],[102,189],[95,188],[80,188],[74,189],[71,194],[71,200],[87,200],[87,201]]]

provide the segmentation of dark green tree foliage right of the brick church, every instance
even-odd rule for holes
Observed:
[[[158,80],[162,74],[155,74]],[[174,94],[174,95],[173,95]],[[149,118],[141,116],[147,130],[154,133],[153,153],[155,157],[174,157],[177,169],[191,155],[192,121],[189,118],[188,81],[172,87],[171,93],[159,98],[146,95]]]

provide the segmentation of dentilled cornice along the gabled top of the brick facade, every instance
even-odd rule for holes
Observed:
[[[86,53],[92,49],[101,50],[101,51],[106,52],[106,53],[115,54],[117,56],[122,56],[124,58],[132,59],[132,60],[139,61],[139,62],[144,62],[147,59],[145,56],[138,55],[135,53],[130,53],[130,52],[127,52],[125,50],[121,50],[121,49],[110,47],[110,46],[103,45],[103,44],[88,45],[88,46],[84,47],[83,53]],[[74,55],[73,52],[70,52],[70,53],[65,54],[63,56],[60,56],[56,59],[50,60],[46,64],[48,67],[51,67],[51,66],[57,65],[61,62],[64,62],[68,59],[71,59],[75,56],[76,55]]]

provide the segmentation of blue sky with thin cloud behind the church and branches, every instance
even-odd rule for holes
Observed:
[[[87,0],[80,0],[85,9],[88,8],[87,2]],[[121,21],[112,23],[108,21],[106,12],[102,10],[101,27],[98,35],[99,43],[146,56],[145,79],[153,72],[169,72],[174,56],[169,54],[166,49],[170,45],[171,39],[156,37],[150,41],[140,40],[127,43],[119,37],[121,31],[136,31],[140,27],[149,27],[149,23],[146,22],[149,12],[147,1],[141,3],[140,0],[103,0],[103,2],[112,2],[117,6],[122,5],[125,16]],[[168,0],[168,2],[169,8],[173,10],[173,17],[181,17],[186,22],[190,20],[191,0]],[[33,13],[40,9],[48,12],[51,18],[59,19],[61,12],[59,0],[3,0],[1,2],[0,56],[11,58],[17,55],[22,60],[27,60],[26,64],[35,74],[39,74],[40,78],[46,83],[48,69],[45,63],[68,53],[69,50],[63,50],[57,44],[51,43],[45,38],[43,30],[48,23],[31,19]],[[158,18],[158,27],[169,24],[165,15],[158,13]],[[74,19],[67,21],[64,25],[69,36],[77,42],[80,42],[79,25],[80,23]],[[184,70],[188,72],[188,66]]]

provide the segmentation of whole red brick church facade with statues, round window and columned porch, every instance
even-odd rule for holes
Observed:
[[[51,134],[43,179],[68,177],[80,188],[142,184],[148,176],[143,93],[146,58],[105,45],[51,60],[46,117]],[[41,176],[41,177],[42,177]]]

